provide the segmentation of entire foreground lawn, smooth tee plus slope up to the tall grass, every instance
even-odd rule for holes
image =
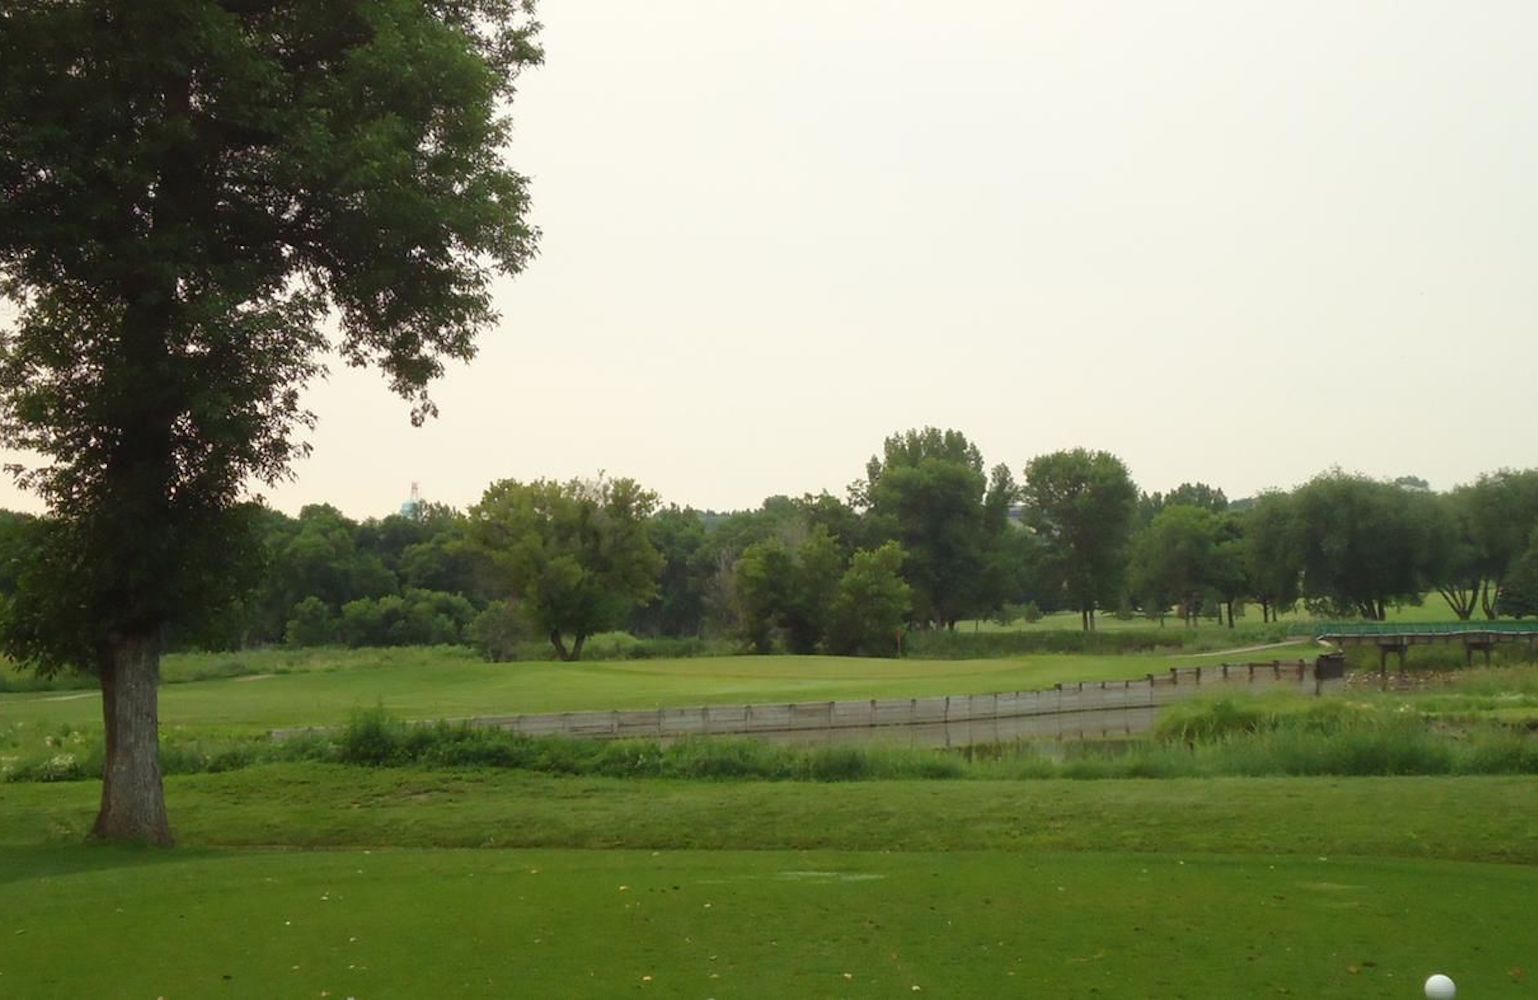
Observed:
[[[1530,778],[306,765],[172,778],[174,852],[74,846],[97,788],[0,786],[0,995],[1530,995]]]

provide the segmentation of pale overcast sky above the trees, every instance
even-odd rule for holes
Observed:
[[[334,366],[275,506],[841,495],[923,425],[1230,497],[1538,465],[1538,3],[540,15],[508,152],[540,255],[429,426]]]

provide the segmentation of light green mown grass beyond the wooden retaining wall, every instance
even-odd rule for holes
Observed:
[[[698,657],[604,663],[486,663],[468,651],[411,658],[338,652],[325,669],[166,685],[166,726],[272,729],[329,726],[354,708],[383,705],[406,718],[461,718],[580,709],[821,702],[1050,688],[1164,672],[1189,655],[1032,655],[997,660],[855,657]],[[1297,658],[1310,646],[1267,649]],[[249,655],[249,654],[248,654]],[[1258,654],[1257,654],[1258,655]],[[375,662],[380,662],[375,666]],[[275,663],[280,660],[275,660]],[[1210,662],[1198,660],[1198,662]],[[100,723],[94,691],[0,694],[0,726]]]

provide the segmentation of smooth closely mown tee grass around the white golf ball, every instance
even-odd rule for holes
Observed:
[[[0,989],[68,997],[1527,995],[1538,872],[1058,854],[17,858]],[[20,869],[20,871],[17,871]],[[80,942],[91,942],[80,948]]]

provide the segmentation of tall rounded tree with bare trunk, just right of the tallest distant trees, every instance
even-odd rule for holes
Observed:
[[[1026,466],[1027,523],[1047,549],[1047,566],[1084,629],[1095,608],[1120,598],[1138,488],[1127,466],[1104,451],[1058,451]]]

